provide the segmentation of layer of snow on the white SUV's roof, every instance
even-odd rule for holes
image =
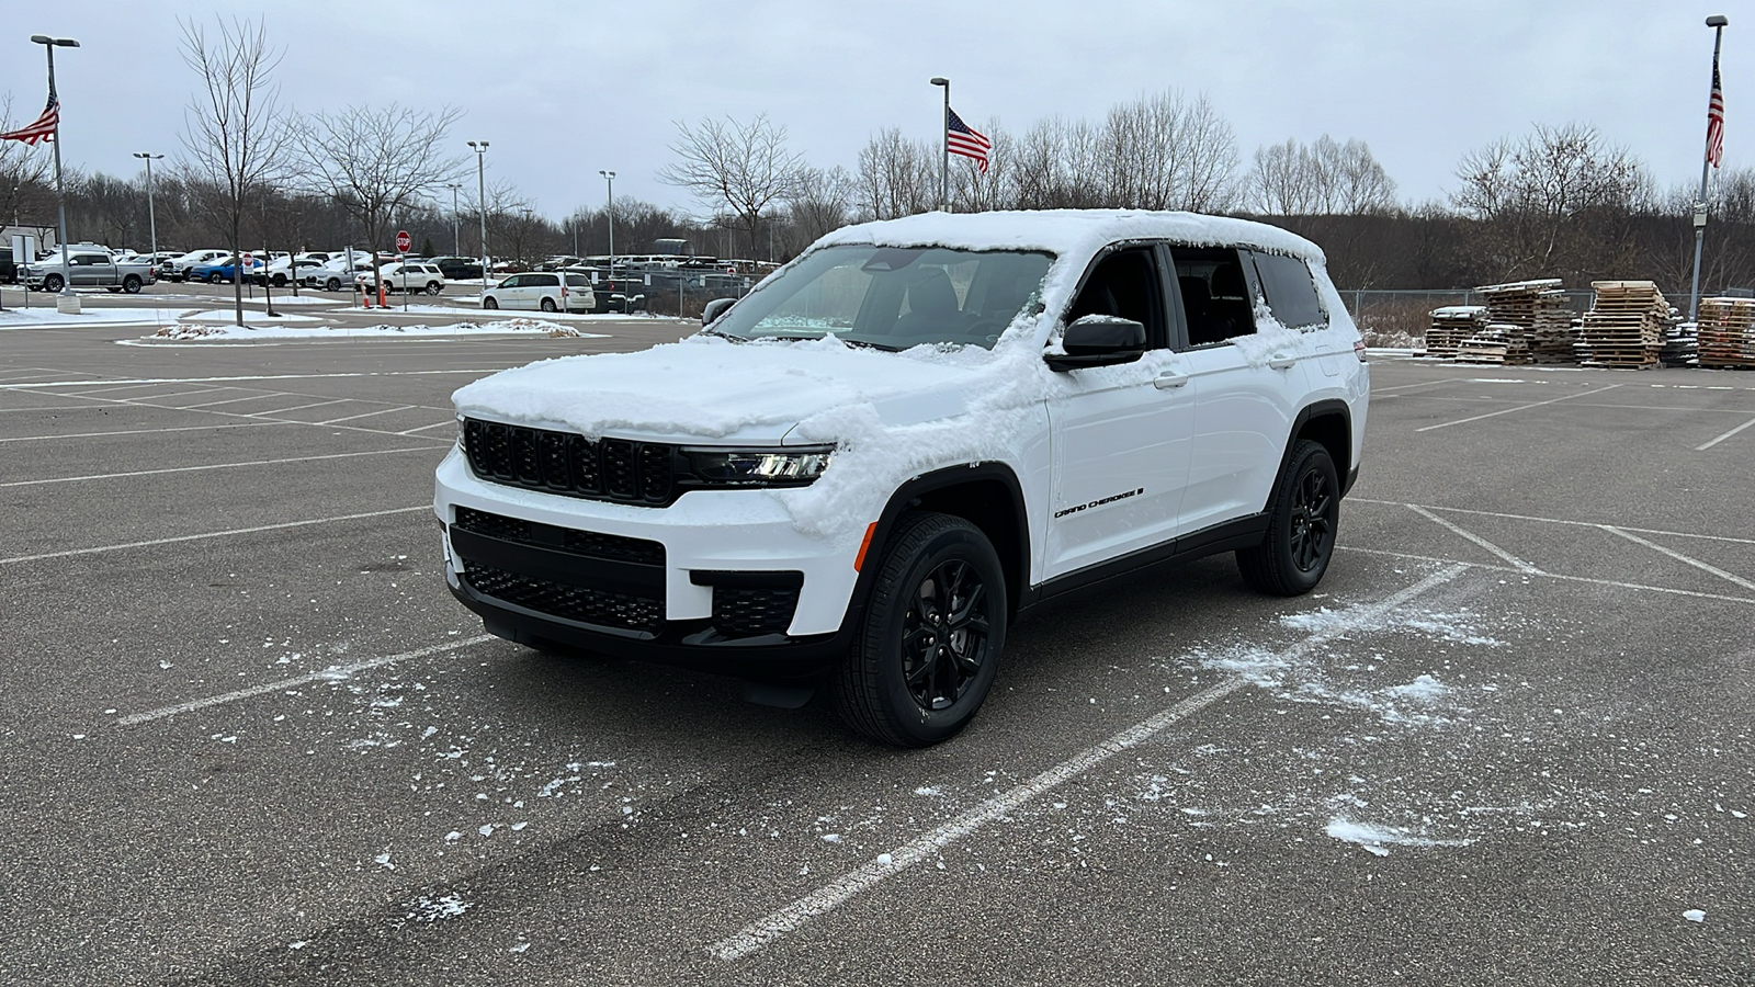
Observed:
[[[1244,246],[1323,263],[1311,241],[1228,216],[1139,209],[1032,209],[1013,213],[921,213],[842,227],[820,244],[948,246],[960,249],[1041,249],[1088,256],[1127,239],[1167,239],[1188,246]]]

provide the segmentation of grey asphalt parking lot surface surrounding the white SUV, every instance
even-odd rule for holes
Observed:
[[[0,982],[1755,983],[1755,374],[1378,358],[1316,594],[904,753],[451,601],[448,395],[597,332],[0,328]]]

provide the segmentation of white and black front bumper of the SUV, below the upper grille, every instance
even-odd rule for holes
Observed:
[[[446,583],[502,638],[776,674],[846,646],[858,544],[800,534],[763,490],[586,501],[486,483],[453,448],[433,511]]]

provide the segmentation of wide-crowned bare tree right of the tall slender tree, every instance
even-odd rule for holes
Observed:
[[[391,218],[462,174],[463,160],[444,153],[460,116],[453,107],[423,112],[397,104],[360,105],[318,112],[297,126],[305,186],[335,200],[360,225],[374,281],[381,283],[377,255],[390,246]]]

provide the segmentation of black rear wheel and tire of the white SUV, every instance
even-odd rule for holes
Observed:
[[[1237,550],[1237,571],[1251,590],[1295,597],[1316,588],[1341,520],[1341,479],[1329,450],[1309,439],[1292,448],[1274,481],[1262,544]]]

